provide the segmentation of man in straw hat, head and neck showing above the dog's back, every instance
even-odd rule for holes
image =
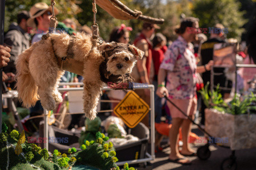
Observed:
[[[30,19],[28,19],[27,24],[29,29],[36,30],[36,34],[33,36],[31,43],[35,43],[41,40],[42,36],[47,33],[50,27],[50,18],[52,16],[52,7],[48,6],[44,2],[36,3],[30,9]],[[54,14],[57,15],[59,10],[54,7]]]

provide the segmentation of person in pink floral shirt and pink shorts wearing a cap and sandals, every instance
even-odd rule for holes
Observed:
[[[191,31],[195,29],[195,31]],[[197,68],[194,47],[192,41],[197,39],[198,19],[190,17],[184,19],[176,33],[179,37],[173,42],[165,53],[165,58],[158,71],[158,88],[156,94],[167,97],[177,105],[183,112],[194,118],[197,100],[196,94],[196,73],[210,70],[213,64],[210,61],[204,66]],[[192,33],[193,32],[193,33]],[[194,33],[196,32],[196,33]],[[165,78],[167,77],[166,87]],[[169,161],[179,164],[191,164],[184,156],[195,156],[195,151],[188,145],[188,134],[191,131],[191,122],[176,107],[167,102],[172,116],[172,127],[169,132],[171,154]],[[179,128],[182,132],[183,146],[179,152],[177,141]]]

